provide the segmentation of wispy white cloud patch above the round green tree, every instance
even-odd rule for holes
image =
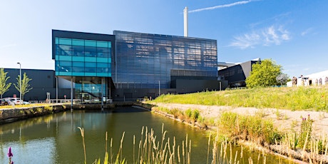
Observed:
[[[235,36],[230,46],[237,48],[254,48],[257,45],[280,45],[282,41],[290,40],[289,31],[283,26],[270,26],[265,29],[252,31],[249,34]]]

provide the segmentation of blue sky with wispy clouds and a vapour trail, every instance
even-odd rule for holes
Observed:
[[[218,61],[272,58],[289,76],[328,70],[328,1],[56,0],[0,2],[0,68],[53,69],[51,29],[216,39]]]

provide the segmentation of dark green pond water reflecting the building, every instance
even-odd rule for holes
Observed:
[[[206,163],[207,133],[165,116],[143,111],[138,108],[124,107],[105,111],[74,111],[30,118],[0,125],[0,161],[8,162],[8,149],[11,147],[15,163],[83,163],[83,142],[78,127],[84,128],[86,154],[88,163],[105,155],[106,131],[108,132],[108,152],[113,138],[113,153],[117,153],[123,132],[123,156],[128,163],[133,163],[133,135],[135,135],[135,152],[138,155],[138,143],[143,127],[155,130],[156,140],[161,138],[162,125],[167,130],[166,140],[171,145],[175,136],[177,145],[182,145],[188,134],[191,140],[191,163]],[[240,147],[233,147],[232,152],[239,152]],[[257,153],[243,150],[243,160],[248,163],[252,156],[257,163]],[[212,155],[210,154],[210,157]],[[238,158],[240,155],[237,155]],[[235,156],[234,156],[235,158]],[[277,163],[279,158],[266,155],[267,163]],[[262,155],[260,158],[262,161]],[[262,163],[262,162],[260,162]],[[287,163],[283,160],[282,163]]]

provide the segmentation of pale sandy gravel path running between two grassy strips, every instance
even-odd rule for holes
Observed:
[[[157,106],[165,108],[178,108],[180,110],[198,109],[200,115],[206,118],[217,118],[220,113],[225,111],[231,111],[242,115],[260,115],[263,118],[272,119],[275,126],[280,130],[290,130],[292,126],[299,128],[299,125],[303,118],[310,118],[314,121],[313,133],[314,135],[326,135],[328,134],[328,113],[317,111],[290,111],[285,109],[275,108],[232,108],[230,106],[203,106],[195,104],[178,104],[178,103],[155,103]]]

